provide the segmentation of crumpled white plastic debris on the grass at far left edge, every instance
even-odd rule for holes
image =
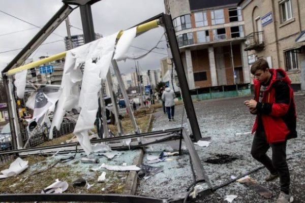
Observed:
[[[9,169],[1,171],[3,175],[0,175],[0,179],[17,176],[18,174],[26,170],[26,168],[28,167],[27,163],[28,161],[23,161],[21,158],[18,157],[15,161],[11,163]]]

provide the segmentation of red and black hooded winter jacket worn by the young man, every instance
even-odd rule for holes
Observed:
[[[283,69],[269,69],[272,78],[259,102],[260,82],[254,82],[254,99],[257,101],[257,116],[252,133],[258,127],[261,116],[263,129],[268,143],[282,142],[296,138],[296,112],[291,81]]]

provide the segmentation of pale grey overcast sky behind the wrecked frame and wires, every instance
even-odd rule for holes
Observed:
[[[39,28],[25,23],[12,16],[37,26],[45,23],[63,6],[60,0],[0,0],[0,70],[9,63],[39,31]],[[73,6],[74,7],[74,6]],[[5,13],[10,15],[7,15]],[[120,30],[127,29],[148,18],[164,12],[163,0],[101,0],[92,5],[95,32],[103,36],[111,35]],[[82,33],[79,9],[75,9],[69,16],[71,35]],[[78,29],[80,28],[80,29]],[[15,32],[15,33],[12,33]],[[60,24],[44,43],[29,58],[38,60],[40,56],[51,56],[65,51],[64,37],[67,36],[65,21]],[[129,49],[128,55],[138,56],[146,53],[159,42],[164,33],[162,27],[149,30],[137,37]],[[59,37],[59,36],[62,37]],[[165,38],[155,52],[139,60],[140,71],[156,70],[160,68],[160,59],[167,56]],[[141,49],[139,49],[141,48]],[[16,51],[10,51],[15,50]],[[121,73],[134,72],[131,67],[135,66],[134,60],[118,63]]]

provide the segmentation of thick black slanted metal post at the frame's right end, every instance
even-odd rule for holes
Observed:
[[[174,30],[173,23],[172,23],[170,15],[163,14],[162,19],[163,19],[163,24],[164,24],[164,27],[165,27],[165,30],[166,30],[166,35],[167,35],[167,38],[168,38],[168,43],[169,43],[169,46],[170,46],[170,50],[171,50],[171,53],[172,53],[172,56],[173,56],[173,61],[175,63],[175,69],[176,69],[176,72],[177,72],[177,75],[178,75],[180,89],[181,89],[181,92],[182,92],[182,95],[183,95],[182,99],[183,99],[184,104],[185,104],[187,116],[188,116],[189,121],[190,121],[190,125],[191,125],[191,128],[192,128],[194,139],[197,142],[201,138],[201,133],[200,133],[195,109],[194,109],[194,106],[193,106],[193,101],[192,101],[192,98],[191,98],[191,94],[189,92],[189,85],[188,85],[186,73],[185,73],[185,70],[184,70],[184,67],[183,67],[183,64],[182,64],[180,51],[179,51],[179,47],[178,47],[178,43],[177,43],[177,39],[176,39],[176,35],[175,35],[175,30]]]

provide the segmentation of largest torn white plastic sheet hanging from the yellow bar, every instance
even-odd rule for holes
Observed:
[[[106,79],[114,51],[117,33],[90,42],[67,52],[62,80],[62,92],[58,99],[50,132],[62,123],[66,111],[81,108],[74,133],[87,155],[92,151],[87,130],[94,127],[98,111],[98,93],[101,80]],[[84,64],[84,72],[80,67]],[[82,81],[82,82],[81,82]],[[81,91],[79,85],[81,83]],[[50,133],[50,138],[52,138]]]

